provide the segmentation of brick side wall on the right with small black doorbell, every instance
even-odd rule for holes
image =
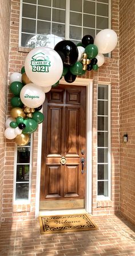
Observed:
[[[122,215],[135,223],[134,13],[134,0],[120,0],[120,211]],[[124,133],[128,133],[128,143],[125,144],[122,142]]]

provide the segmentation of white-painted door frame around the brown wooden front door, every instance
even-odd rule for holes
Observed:
[[[63,78],[62,85],[71,85]],[[92,213],[92,106],[93,106],[93,79],[76,78],[72,83],[76,86],[86,86],[86,195],[85,210]],[[40,196],[40,178],[41,178],[41,149],[42,149],[42,124],[38,128],[38,154],[37,154],[37,179],[35,190],[35,217],[39,216],[39,196]],[[66,210],[64,210],[66,211]],[[76,210],[74,210],[76,211]],[[47,212],[47,211],[46,211]],[[56,211],[55,211],[56,212]]]

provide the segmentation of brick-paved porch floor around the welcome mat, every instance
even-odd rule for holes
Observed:
[[[0,255],[135,255],[135,227],[120,216],[92,216],[98,230],[41,235],[38,220],[2,223]]]

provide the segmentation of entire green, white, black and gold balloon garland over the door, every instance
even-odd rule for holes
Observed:
[[[29,142],[29,135],[37,130],[44,116],[40,112],[45,93],[56,87],[64,77],[73,83],[77,75],[98,70],[106,54],[117,45],[117,34],[112,29],[101,30],[95,39],[86,35],[77,45],[70,40],[60,41],[54,49],[38,47],[26,56],[21,73],[10,76],[11,117],[5,122],[5,137],[14,139],[19,146]]]

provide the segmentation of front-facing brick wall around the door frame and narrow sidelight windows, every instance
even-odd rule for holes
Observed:
[[[11,72],[21,71],[29,49],[18,48],[19,32],[19,0],[11,1],[11,24],[10,24],[10,54],[9,54],[9,75]],[[112,29],[118,34],[118,1],[112,1]],[[119,80],[118,80],[118,45],[112,52],[112,58],[106,58],[105,64],[98,71],[88,72],[87,78],[94,79],[93,85],[93,215],[118,213],[119,212]],[[112,143],[112,198],[110,201],[97,202],[97,84],[111,84],[111,143]],[[8,92],[8,112],[10,114],[10,98]],[[29,219],[34,217],[35,207],[35,179],[37,168],[37,142],[38,133],[34,133],[33,148],[33,174],[32,174],[32,194],[30,205],[13,205],[13,174],[14,174],[14,142],[6,141],[6,162],[5,162],[5,186],[3,193],[3,213],[4,220]],[[9,156],[10,154],[10,156]],[[11,179],[9,180],[9,175]],[[7,183],[8,182],[8,183]]]

